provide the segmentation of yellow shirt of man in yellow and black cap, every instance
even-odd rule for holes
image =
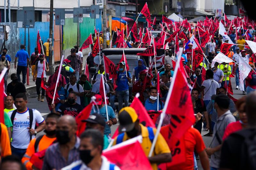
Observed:
[[[143,126],[142,124],[140,124],[140,127],[141,127],[141,136],[142,136],[142,143],[140,145],[141,145],[145,155],[148,157],[152,143],[148,137],[149,136],[148,128]],[[156,128],[153,128],[153,132],[154,132],[154,134],[156,134]],[[116,138],[114,140],[113,145],[116,144]],[[125,133],[123,141],[126,141],[128,139],[130,139],[130,138]],[[159,133],[157,140],[156,140],[156,146],[155,146],[152,156],[162,154],[162,153],[170,153],[171,154],[171,151],[169,149],[168,144],[164,140],[164,137]],[[157,170],[157,164],[151,164],[151,166],[154,170]]]

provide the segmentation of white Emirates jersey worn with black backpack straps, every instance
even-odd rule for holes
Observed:
[[[33,123],[32,128],[35,129],[36,123],[40,124],[44,122],[44,118],[41,113],[36,110],[33,110]],[[11,117],[13,111],[8,113],[8,116]],[[12,127],[12,143],[11,145],[19,149],[27,149],[28,144],[30,143],[30,134],[28,132],[29,128],[29,112],[28,108],[25,112],[19,113],[17,111]],[[32,139],[35,138],[35,135],[32,135]]]

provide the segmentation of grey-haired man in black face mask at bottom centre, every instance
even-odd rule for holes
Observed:
[[[81,142],[79,146],[80,159],[73,162],[62,170],[79,169],[79,170],[120,170],[118,166],[108,161],[102,154],[103,137],[99,130],[88,129],[80,136]]]

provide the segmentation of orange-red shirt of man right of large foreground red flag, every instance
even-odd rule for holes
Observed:
[[[197,153],[200,153],[205,149],[203,138],[197,129],[190,128],[183,136],[185,141],[186,161],[174,165],[169,169],[193,170],[194,151],[196,150]]]

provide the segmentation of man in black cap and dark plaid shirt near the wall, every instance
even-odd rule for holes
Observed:
[[[76,71],[76,80],[79,80],[79,75],[82,74],[83,63],[80,56],[76,55],[76,49],[71,48],[71,55],[67,59],[70,61],[71,67]]]

